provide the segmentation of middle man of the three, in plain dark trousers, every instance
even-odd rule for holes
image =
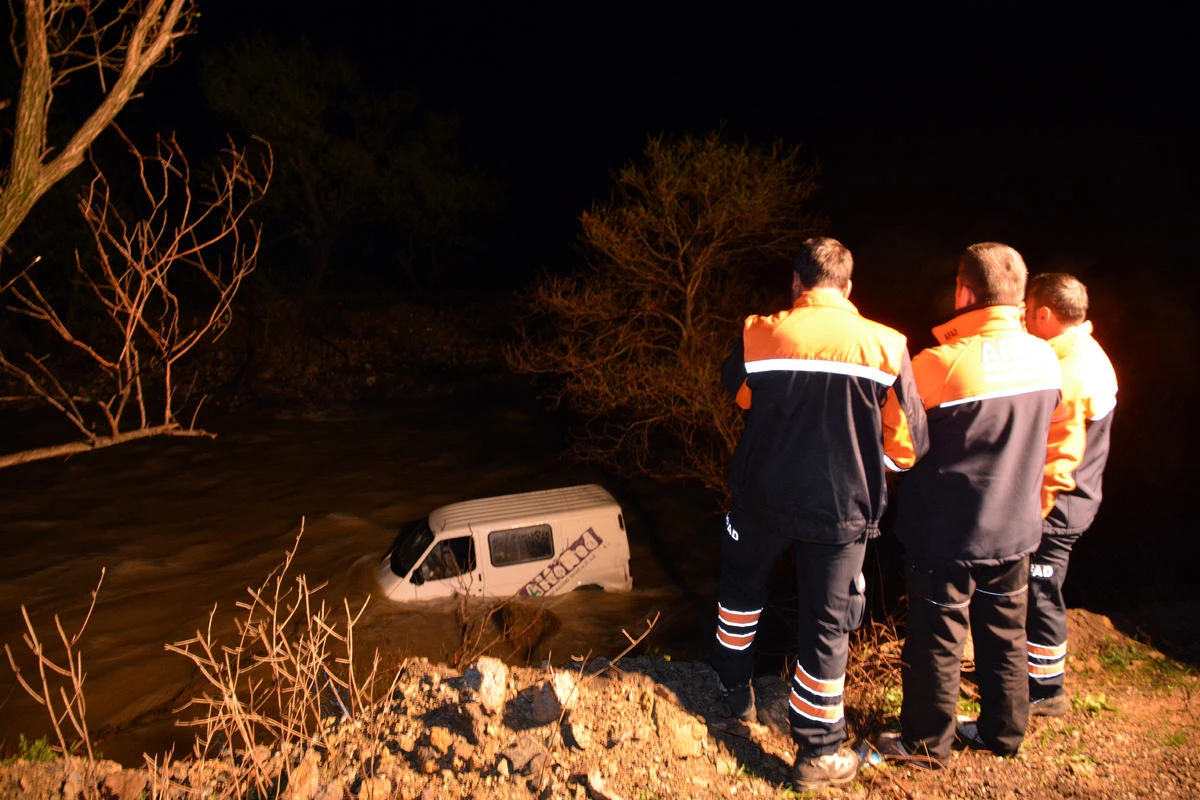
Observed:
[[[900,732],[881,735],[894,760],[941,766],[955,735],[960,658],[973,631],[979,718],[968,745],[1016,753],[1028,718],[1025,612],[1030,554],[1042,540],[1058,360],[1026,333],[1027,270],[1012,247],[972,245],[959,260],[956,315],[913,357],[929,419],[929,455],[904,477],[895,530],[905,547],[907,637]],[[1056,443],[1055,452],[1069,452]]]

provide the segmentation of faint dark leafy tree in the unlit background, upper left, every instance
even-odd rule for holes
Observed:
[[[341,54],[305,40],[239,41],[206,60],[204,84],[215,110],[275,151],[263,209],[269,240],[299,245],[306,275],[293,278],[310,297],[335,264],[382,266],[410,285],[436,282],[464,217],[490,203],[488,184],[460,162],[455,122],[422,112],[410,95],[366,85]],[[355,264],[364,252],[355,246],[338,257],[355,236],[390,240],[391,264]]]

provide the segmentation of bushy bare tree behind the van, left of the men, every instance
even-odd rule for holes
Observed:
[[[794,148],[713,133],[650,138],[616,184],[581,217],[588,269],[532,291],[509,362],[557,378],[553,402],[584,421],[577,456],[724,495],[742,419],[720,365],[820,224],[806,210],[815,176]]]

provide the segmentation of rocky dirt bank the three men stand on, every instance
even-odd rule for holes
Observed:
[[[320,741],[287,753],[173,762],[130,770],[84,759],[0,765],[8,799],[346,798],[1196,798],[1196,670],[1073,610],[1072,711],[1034,718],[1015,758],[956,752],[949,768],[865,768],[852,784],[804,795],[787,784],[780,728],[786,684],[758,681],[761,724],[730,720],[706,664],[665,657],[463,672],[406,662],[388,698],[330,718]],[[899,643],[856,644],[847,709],[854,742],[894,724]],[[964,708],[970,709],[970,669]],[[257,775],[270,776],[254,787]],[[250,777],[248,777],[250,776]],[[242,781],[239,783],[239,780]]]

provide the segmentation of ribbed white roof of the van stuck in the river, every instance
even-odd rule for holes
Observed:
[[[504,494],[496,498],[451,503],[434,509],[430,513],[430,529],[438,534],[448,528],[462,528],[479,523],[511,528],[523,522],[536,523],[562,513],[616,504],[617,500],[602,486],[595,483]]]

